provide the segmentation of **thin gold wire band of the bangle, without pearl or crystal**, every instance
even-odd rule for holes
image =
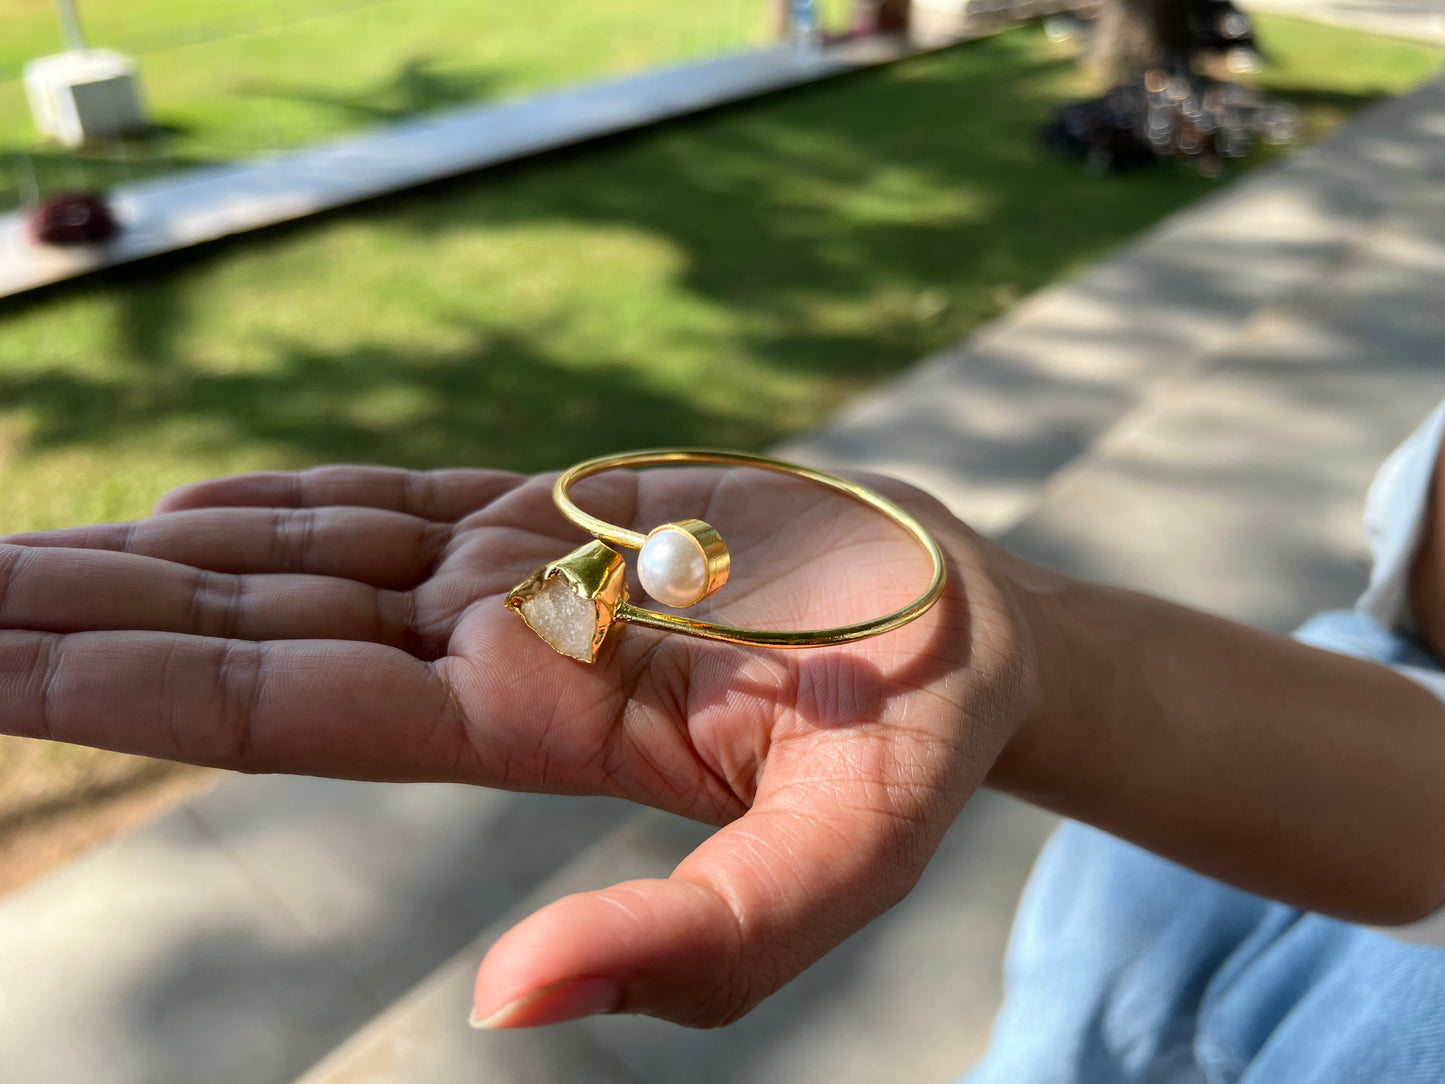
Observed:
[[[652,451],[623,452],[618,455],[600,455],[595,460],[587,460],[585,463],[579,463],[575,467],[562,471],[556,483],[552,486],[552,500],[556,503],[558,510],[569,522],[575,523],[590,535],[595,535],[604,542],[627,546],[629,549],[642,549],[643,543],[647,541],[646,535],[607,523],[605,520],[597,519],[597,516],[590,516],[572,503],[572,499],[568,496],[568,490],[582,478],[590,478],[594,474],[601,474],[604,471],[624,470],[627,467],[675,467],[681,464],[753,467],[756,470],[773,471],[775,474],[788,474],[795,478],[803,478],[805,481],[829,489],[834,493],[853,497],[854,500],[861,502],[863,504],[867,504],[868,507],[887,516],[890,520],[903,528],[903,530],[912,535],[920,546],[923,546],[923,551],[932,562],[932,578],[929,580],[928,588],[923,594],[900,610],[894,610],[893,613],[884,614],[883,617],[877,617],[871,621],[842,624],[835,629],[806,629],[798,632],[779,629],[744,629],[731,624],[696,621],[691,617],[657,613],[656,610],[644,610],[627,601],[620,601],[617,604],[617,620],[631,621],[633,624],[640,624],[646,629],[660,629],[662,632],[696,636],[704,640],[721,640],[724,643],[743,643],[757,648],[825,648],[837,643],[854,643],[855,640],[866,640],[870,636],[881,636],[886,632],[893,632],[916,617],[922,617],[944,594],[944,581],[946,580],[944,552],[938,548],[938,542],[933,541],[933,536],[929,535],[923,525],[913,519],[913,516],[887,497],[881,497],[855,481],[848,481],[847,478],[840,478],[832,474],[824,474],[822,471],[815,471],[811,467],[799,467],[798,464],[783,463],[782,460],[772,460],[766,455],[715,451],[711,448],[656,448]]]

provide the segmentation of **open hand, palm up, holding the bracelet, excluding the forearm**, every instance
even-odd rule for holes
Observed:
[[[718,1025],[897,902],[1032,710],[997,555],[873,480],[949,556],[944,598],[860,643],[631,627],[584,665],[503,606],[578,542],[551,478],[341,467],[201,483],[152,519],[0,545],[0,730],[246,772],[608,793],[722,825],[668,880],[562,899],[488,952],[477,1018]],[[756,471],[616,473],[590,512],[720,528],[711,620],[827,627],[928,580],[887,519]]]

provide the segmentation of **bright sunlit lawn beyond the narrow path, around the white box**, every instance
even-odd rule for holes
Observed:
[[[828,0],[838,22],[847,0]],[[156,132],[87,153],[33,132],[20,71],[56,52],[52,0],[0,0],[0,210],[303,146],[764,40],[764,0],[84,0],[91,43],[137,59]],[[32,184],[33,171],[33,184]]]

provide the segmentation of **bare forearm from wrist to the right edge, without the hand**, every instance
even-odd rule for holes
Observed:
[[[1013,567],[1042,689],[993,785],[1308,909],[1405,922],[1445,902],[1445,705],[1429,692]]]

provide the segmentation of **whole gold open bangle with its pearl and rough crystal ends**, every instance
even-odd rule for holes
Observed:
[[[633,606],[627,601],[626,565],[621,555],[607,545],[608,542],[642,551],[639,569],[642,571],[644,562],[649,565],[649,572],[643,575],[643,585],[649,594],[669,606],[692,606],[727,582],[731,559],[722,536],[699,519],[663,523],[647,535],[640,535],[636,530],[627,530],[587,515],[572,503],[568,490],[582,478],[603,471],[678,464],[754,467],[803,478],[853,497],[881,512],[923,546],[933,567],[928,588],[903,608],[871,621],[799,632],[712,624]],[[507,608],[517,613],[527,623],[527,627],[546,640],[553,650],[581,662],[594,662],[607,635],[623,621],[682,633],[683,636],[696,636],[704,640],[744,643],[756,648],[825,648],[892,632],[925,614],[944,594],[946,577],[944,554],[933,536],[909,513],[892,500],[880,497],[854,481],[782,460],[770,460],[764,455],[705,448],[660,448],[603,455],[562,471],[552,486],[552,500],[571,523],[595,535],[598,541],[588,542],[566,556],[536,569],[507,594]]]

